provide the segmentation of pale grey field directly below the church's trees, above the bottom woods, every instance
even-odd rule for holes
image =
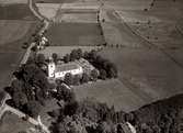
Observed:
[[[76,98],[80,101],[85,98],[94,98],[100,102],[106,102],[115,110],[129,112],[145,104],[140,97],[126,88],[119,80],[98,81],[75,87]]]

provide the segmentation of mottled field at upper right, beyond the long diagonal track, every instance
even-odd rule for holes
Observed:
[[[145,11],[118,11],[119,16],[131,30],[144,38],[165,48],[182,47],[183,38],[175,29],[180,21],[183,2],[171,0],[156,1],[155,5]],[[181,26],[180,31],[181,31]]]

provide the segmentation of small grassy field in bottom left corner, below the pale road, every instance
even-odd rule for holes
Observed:
[[[0,121],[1,133],[19,133],[21,131],[26,131],[26,129],[31,126],[33,125],[10,112],[4,113]]]

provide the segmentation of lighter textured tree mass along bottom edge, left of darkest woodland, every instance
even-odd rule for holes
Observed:
[[[53,112],[53,133],[123,133],[119,123],[125,121],[125,113],[93,99],[71,101]]]

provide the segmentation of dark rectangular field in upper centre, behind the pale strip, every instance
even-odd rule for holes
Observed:
[[[54,23],[47,37],[56,46],[84,46],[104,44],[96,23]]]

